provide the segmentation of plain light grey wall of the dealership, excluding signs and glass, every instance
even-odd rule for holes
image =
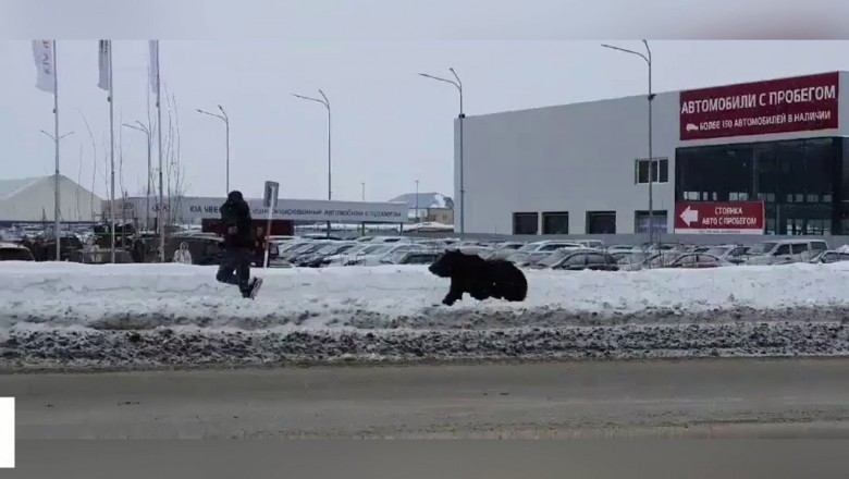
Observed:
[[[845,72],[839,89],[849,91]],[[840,122],[837,131],[680,142],[679,93],[657,94],[652,109],[653,156],[669,160],[669,181],[653,185],[654,210],[667,212],[669,232],[676,148],[849,135],[848,123]],[[846,95],[839,115],[849,115]],[[456,231],[464,211],[467,233],[495,234],[513,232],[514,212],[538,212],[541,219],[542,212],[568,211],[569,233],[585,234],[588,211],[616,211],[616,232],[628,234],[635,232],[635,211],[649,209],[649,186],[635,184],[635,160],[649,156],[645,96],[467,116],[463,128],[465,197],[456,120]]]

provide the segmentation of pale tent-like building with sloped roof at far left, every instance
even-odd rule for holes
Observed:
[[[53,221],[56,176],[0,180],[0,221]],[[95,221],[102,200],[73,180],[59,175],[60,219]]]

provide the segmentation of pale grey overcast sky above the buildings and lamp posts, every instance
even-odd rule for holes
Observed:
[[[468,115],[642,94],[645,65],[601,41],[264,40],[161,42],[163,86],[176,100],[181,157],[189,194],[223,195],[224,125],[201,115],[222,105],[231,119],[231,187],[261,194],[264,180],[281,196],[327,197],[325,112],[291,93],[333,108],[334,199],[387,200],[411,192],[452,194],[452,121],[457,94],[418,72],[465,85]],[[612,41],[639,49],[639,41]],[[847,41],[653,41],[657,91],[849,70]],[[115,124],[146,121],[147,42],[114,41]],[[59,41],[61,172],[108,197],[109,110],[97,84],[97,40]],[[29,41],[0,42],[0,177],[51,174],[52,96],[35,88]],[[95,135],[91,140],[82,114]],[[165,114],[164,121],[168,121]],[[123,184],[145,184],[144,134],[121,135]],[[611,137],[615,132],[611,132]],[[81,159],[82,149],[82,159]],[[520,161],[520,159],[517,159]],[[118,161],[118,160],[116,160]],[[153,162],[156,163],[156,144]]]

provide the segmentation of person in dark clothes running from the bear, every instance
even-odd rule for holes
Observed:
[[[224,258],[216,279],[222,283],[238,285],[242,297],[256,297],[262,279],[250,281],[250,263],[254,261],[255,237],[251,231],[250,207],[242,193],[230,192],[221,206],[221,223],[224,229]]]

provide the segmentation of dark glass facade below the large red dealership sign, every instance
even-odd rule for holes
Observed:
[[[678,148],[675,199],[762,200],[767,234],[849,234],[848,168],[840,137]]]

